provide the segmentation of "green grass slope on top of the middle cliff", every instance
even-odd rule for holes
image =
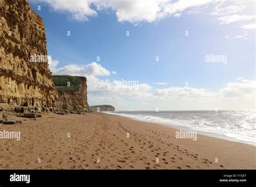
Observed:
[[[79,85],[82,82],[80,78],[70,75],[53,75],[52,80],[59,95],[61,95],[63,91],[79,91]],[[68,87],[68,83],[70,83],[70,87]]]

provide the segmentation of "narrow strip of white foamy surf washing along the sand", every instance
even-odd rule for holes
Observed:
[[[124,116],[121,113],[114,113],[114,112],[103,112],[103,113],[111,114],[111,115],[117,115],[117,116],[129,118],[129,119],[132,119],[132,120],[143,121],[145,123],[153,123],[153,124],[163,125],[163,126],[166,126],[166,127],[176,128],[176,129],[180,129],[180,130],[184,130],[184,131],[196,131],[198,134],[201,134],[201,135],[206,135],[206,136],[210,136],[210,137],[213,137],[213,138],[219,138],[219,139],[223,139],[223,140],[227,140],[227,141],[240,142],[240,143],[245,143],[247,145],[256,146],[256,142],[253,142],[253,141],[240,140],[240,139],[237,139],[237,138],[232,137],[232,136],[227,136],[225,134],[218,134],[218,133],[214,133],[214,132],[195,130],[192,127],[188,127],[188,126],[169,124],[169,123],[164,123],[164,122],[154,121],[154,120],[148,120],[148,119],[140,119],[139,117],[129,117],[128,115]]]

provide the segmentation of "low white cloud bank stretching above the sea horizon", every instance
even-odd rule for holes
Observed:
[[[110,71],[96,62],[83,67],[72,64],[57,68],[57,64],[53,60],[49,66],[58,75],[86,76],[90,105],[112,104],[118,110],[154,110],[156,105],[163,110],[254,109],[255,80],[237,78],[216,92],[190,87],[153,89],[146,83],[132,87],[122,84],[122,80],[102,80],[96,76],[110,75]]]

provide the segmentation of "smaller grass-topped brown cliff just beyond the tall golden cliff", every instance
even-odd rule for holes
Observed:
[[[89,111],[85,77],[54,75],[52,78],[58,90],[62,109]]]

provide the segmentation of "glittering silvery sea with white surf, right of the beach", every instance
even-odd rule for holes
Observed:
[[[256,146],[255,110],[117,111],[107,113]]]

